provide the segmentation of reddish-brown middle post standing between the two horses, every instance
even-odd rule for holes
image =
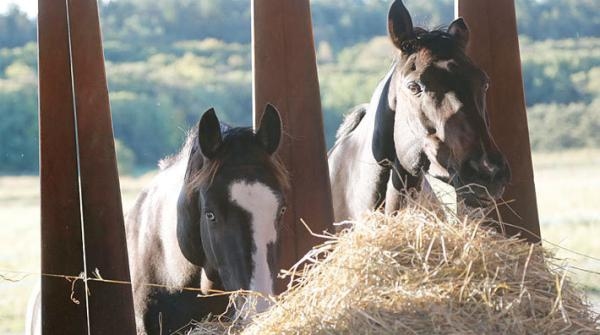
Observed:
[[[254,123],[267,102],[279,109],[284,131],[279,154],[291,175],[280,254],[280,266],[287,269],[323,242],[300,219],[319,233],[333,222],[310,4],[254,0],[252,6]]]

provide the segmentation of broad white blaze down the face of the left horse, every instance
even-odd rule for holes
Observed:
[[[268,186],[245,181],[235,181],[230,187],[231,201],[251,216],[252,238],[256,250],[252,254],[254,270],[250,289],[273,294],[273,278],[268,264],[268,246],[277,239],[276,219],[279,200]]]

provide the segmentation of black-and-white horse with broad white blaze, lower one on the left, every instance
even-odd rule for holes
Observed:
[[[224,311],[226,297],[183,288],[273,294],[287,185],[274,156],[280,137],[271,105],[256,133],[221,124],[210,109],[181,152],[161,161],[126,217],[139,333],[170,334]]]

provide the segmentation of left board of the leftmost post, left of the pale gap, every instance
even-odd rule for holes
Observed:
[[[75,120],[65,1],[39,0],[39,124],[42,273],[83,271]],[[42,277],[42,332],[86,334],[84,285]]]

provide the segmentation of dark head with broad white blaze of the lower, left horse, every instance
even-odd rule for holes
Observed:
[[[204,113],[179,198],[178,239],[192,263],[225,290],[273,294],[287,175],[273,156],[281,119],[267,105],[260,127],[225,130]],[[259,305],[260,307],[260,305]]]

